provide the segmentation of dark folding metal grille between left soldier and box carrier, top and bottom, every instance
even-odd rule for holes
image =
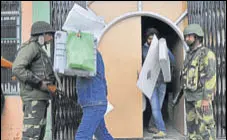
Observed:
[[[55,30],[61,30],[75,1],[52,1],[51,24]],[[86,8],[86,1],[77,1]],[[53,48],[53,47],[52,47]],[[53,56],[53,50],[52,50]],[[53,58],[52,58],[53,59]],[[53,140],[74,140],[75,133],[82,117],[82,110],[76,104],[75,77],[64,76],[61,78],[65,97],[54,97],[52,103],[52,138]],[[72,100],[69,100],[72,99]]]

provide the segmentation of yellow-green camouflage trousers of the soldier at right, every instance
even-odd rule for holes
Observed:
[[[187,129],[190,140],[216,140],[216,128],[212,101],[209,110],[203,112],[202,100],[186,102]]]

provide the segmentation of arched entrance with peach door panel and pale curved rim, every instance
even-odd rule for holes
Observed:
[[[114,106],[114,110],[106,117],[107,127],[115,137],[143,137],[142,94],[136,87],[137,73],[142,63],[143,17],[156,21],[153,26],[159,27],[162,24],[167,29],[165,31],[159,27],[177,61],[175,78],[169,87],[172,95],[179,90],[179,72],[184,56],[183,35],[179,28],[168,18],[146,11],[130,12],[115,18],[98,39],[106,68],[108,98]],[[172,116],[173,126],[182,134],[185,133],[184,116],[182,100],[174,108]]]

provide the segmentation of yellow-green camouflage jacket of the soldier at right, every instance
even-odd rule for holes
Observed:
[[[204,46],[189,51],[182,76],[187,101],[212,99],[216,89],[215,54]]]

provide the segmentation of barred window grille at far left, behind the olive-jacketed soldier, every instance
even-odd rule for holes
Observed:
[[[19,1],[1,1],[1,56],[13,62],[21,41]],[[11,80],[12,70],[1,68],[1,87],[6,95],[19,95],[19,83]]]

